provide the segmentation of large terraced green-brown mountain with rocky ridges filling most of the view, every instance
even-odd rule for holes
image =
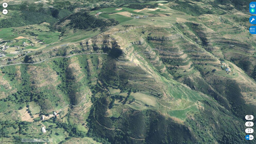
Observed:
[[[194,3],[204,11],[215,6]],[[33,127],[44,125],[43,137],[58,142],[246,143],[244,116],[256,108],[255,37],[242,19],[249,15],[223,8],[230,4],[192,14],[175,9],[179,2],[89,12],[119,24],[79,42],[2,59],[1,122],[32,127],[21,138],[41,136]],[[132,11],[138,16],[127,15]],[[66,20],[55,26],[81,30],[66,27]],[[40,121],[52,111],[58,117]]]

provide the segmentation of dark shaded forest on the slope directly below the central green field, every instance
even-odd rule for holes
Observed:
[[[115,98],[119,99],[118,96],[111,99]],[[106,117],[107,107],[111,106],[107,99],[104,93],[100,98],[92,98],[94,105],[88,117],[90,129],[87,136],[103,143],[132,143],[132,138],[140,136],[145,137],[145,143],[195,143],[195,137],[185,125],[175,123],[156,111],[129,109],[121,117]],[[99,123],[118,130],[107,130]]]

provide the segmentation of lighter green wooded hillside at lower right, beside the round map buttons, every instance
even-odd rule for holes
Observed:
[[[213,102],[202,101],[202,103],[204,103],[205,109],[201,113],[192,114],[193,118],[188,118],[185,122],[191,131],[201,139],[197,143],[216,143],[215,141],[221,144],[245,143],[244,122],[242,120],[230,119],[233,117],[232,113]],[[218,126],[219,123],[221,126]],[[209,131],[212,133],[211,136],[208,135]]]

